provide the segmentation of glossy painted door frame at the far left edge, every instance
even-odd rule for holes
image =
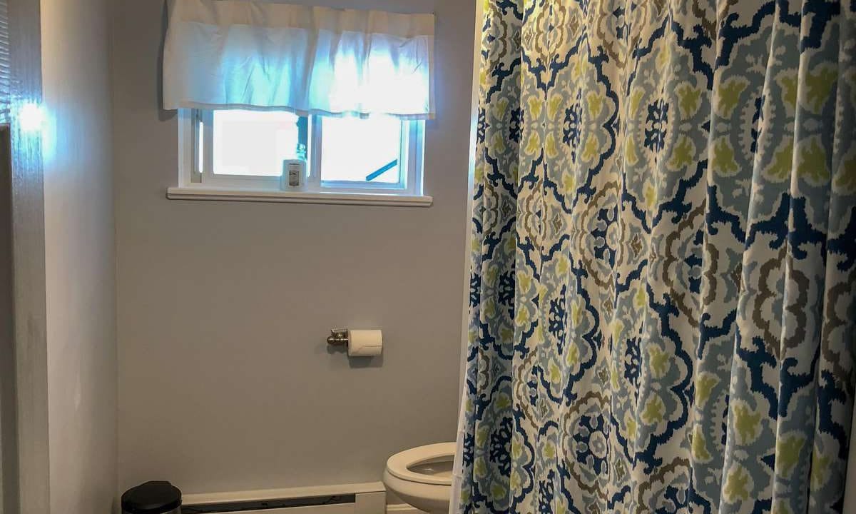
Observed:
[[[40,106],[42,102],[41,15],[38,0],[7,0],[7,3],[17,458],[6,462],[14,462],[17,469],[4,469],[3,482],[14,489],[10,493],[7,487],[4,493],[9,501],[15,502],[13,512],[45,514],[50,511],[50,461],[41,127],[37,124],[25,129],[17,117],[22,106]]]

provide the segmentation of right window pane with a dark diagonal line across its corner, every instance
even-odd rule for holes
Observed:
[[[325,117],[321,139],[322,181],[403,182],[400,120]]]

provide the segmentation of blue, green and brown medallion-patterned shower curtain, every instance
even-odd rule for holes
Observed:
[[[458,511],[841,512],[856,0],[486,0],[481,57]]]

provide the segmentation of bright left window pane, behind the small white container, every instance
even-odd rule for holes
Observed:
[[[306,158],[306,118],[290,112],[214,111],[217,175],[279,176],[282,161]]]

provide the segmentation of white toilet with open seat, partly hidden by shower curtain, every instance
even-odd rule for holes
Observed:
[[[455,443],[439,443],[396,453],[386,461],[383,483],[392,493],[429,514],[449,512]]]

